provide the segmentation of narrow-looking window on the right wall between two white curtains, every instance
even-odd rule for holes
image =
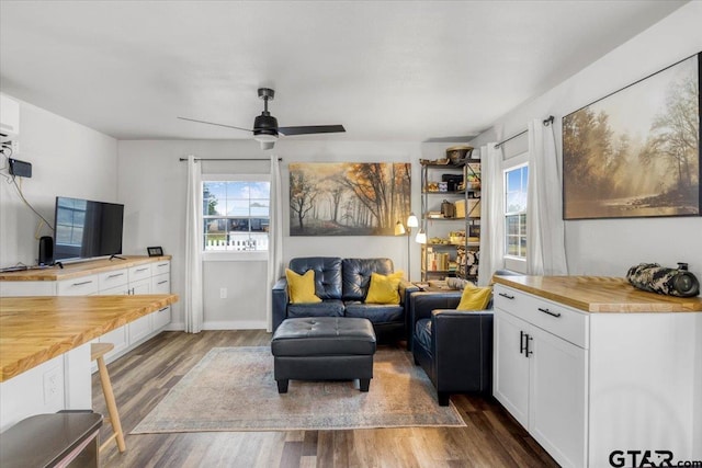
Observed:
[[[526,187],[529,165],[505,170],[505,254],[526,260]]]

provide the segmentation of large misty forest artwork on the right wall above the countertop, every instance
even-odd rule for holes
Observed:
[[[701,57],[563,117],[564,219],[701,214]]]

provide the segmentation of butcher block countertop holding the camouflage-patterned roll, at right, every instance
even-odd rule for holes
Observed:
[[[626,279],[603,276],[494,276],[510,286],[587,312],[700,312],[702,298],[636,289]]]

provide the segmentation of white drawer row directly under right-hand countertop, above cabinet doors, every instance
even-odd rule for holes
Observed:
[[[587,312],[502,285],[495,285],[495,307],[573,344],[589,347]]]

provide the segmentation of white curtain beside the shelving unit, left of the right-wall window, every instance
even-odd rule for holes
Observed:
[[[480,260],[478,285],[486,286],[505,267],[502,149],[490,142],[480,148]]]

